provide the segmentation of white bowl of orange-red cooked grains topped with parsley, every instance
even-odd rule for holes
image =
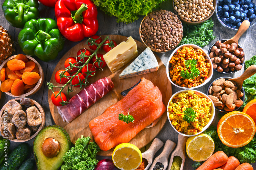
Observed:
[[[166,64],[166,74],[176,87],[193,89],[210,81],[213,66],[210,57],[201,47],[184,44],[170,55]]]

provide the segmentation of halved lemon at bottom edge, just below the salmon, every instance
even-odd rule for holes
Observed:
[[[116,146],[112,160],[116,167],[122,170],[137,169],[142,161],[142,155],[139,148],[131,143],[122,143]]]

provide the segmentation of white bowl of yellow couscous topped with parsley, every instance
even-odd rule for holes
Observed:
[[[176,132],[195,136],[206,130],[215,116],[214,103],[197,90],[181,90],[168,102],[167,117]]]

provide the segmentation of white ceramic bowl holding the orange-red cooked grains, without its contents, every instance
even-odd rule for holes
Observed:
[[[208,62],[211,64],[210,70],[209,70],[209,72],[208,72],[208,78],[206,79],[206,81],[205,81],[204,83],[198,85],[198,86],[191,87],[191,88],[178,86],[177,84],[175,84],[175,83],[170,79],[170,76],[169,76],[169,61],[171,60],[171,58],[172,58],[172,56],[174,55],[174,53],[176,53],[177,50],[182,49],[184,46],[186,46],[186,47],[187,47],[187,46],[191,46],[192,48],[198,48],[198,49],[202,50],[202,52],[203,52],[203,53],[205,54],[205,56],[208,58],[208,60],[209,60]],[[184,45],[181,45],[181,46],[177,47],[177,48],[173,51],[173,53],[170,55],[170,57],[169,57],[169,59],[168,59],[168,62],[167,62],[167,64],[166,64],[166,74],[167,74],[167,77],[168,77],[169,81],[170,81],[173,85],[175,85],[176,87],[183,88],[183,89],[193,89],[193,88],[201,87],[201,86],[207,84],[207,83],[211,80],[211,77],[212,77],[212,74],[213,74],[213,66],[212,66],[211,58],[209,57],[209,55],[208,55],[201,47],[199,47],[199,46],[197,46],[197,45],[194,45],[194,44],[184,44]]]

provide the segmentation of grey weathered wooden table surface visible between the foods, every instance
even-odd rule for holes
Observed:
[[[2,6],[4,0],[0,0],[0,2],[1,2],[0,3],[1,6]],[[156,8],[156,10],[157,9],[165,9],[165,10],[173,11],[171,3],[172,3],[171,0],[165,1],[160,5],[160,7]],[[40,11],[39,18],[45,17],[45,18],[52,18],[52,19],[56,20],[56,17],[54,14],[54,8],[46,7],[42,4],[39,4],[39,11]],[[115,17],[109,17],[103,11],[98,10],[99,31],[97,32],[96,35],[117,34],[117,35],[124,35],[124,36],[132,36],[134,39],[141,41],[140,36],[139,36],[139,26],[140,26],[140,23],[141,23],[143,17],[144,16],[141,16],[141,17],[139,17],[139,19],[137,21],[135,21],[133,23],[129,23],[129,24],[126,24],[123,22],[117,23],[115,20]],[[214,30],[214,35],[216,36],[216,38],[214,40],[212,40],[208,46],[203,48],[205,51],[208,51],[211,44],[215,43],[216,41],[221,40],[221,39],[229,39],[236,34],[236,31],[232,31],[232,30],[229,30],[229,29],[223,27],[217,20],[216,14],[214,14],[212,16],[212,19],[214,21],[214,29],[213,30]],[[14,27],[10,26],[7,23],[6,19],[4,18],[4,14],[3,14],[2,10],[0,10],[0,24],[5,29],[7,29],[7,31],[9,32],[10,35],[13,36],[13,40],[14,40],[14,44],[15,44],[14,55],[15,54],[24,54],[23,51],[20,49],[18,42],[17,42],[18,34],[21,29],[14,28]],[[251,58],[252,55],[256,55],[256,48],[255,48],[256,29],[255,28],[256,28],[256,26],[249,28],[242,35],[242,37],[239,40],[239,44],[244,49],[245,60],[248,60],[249,58]],[[53,73],[53,70],[54,70],[56,64],[58,63],[58,61],[61,59],[61,57],[70,48],[72,48],[74,45],[76,45],[78,43],[79,42],[71,42],[71,41],[66,40],[65,46],[64,46],[63,50],[59,53],[58,57],[54,61],[51,61],[49,63],[40,61],[38,58],[35,57],[35,59],[39,62],[39,64],[41,64],[42,69],[44,70],[44,75],[45,75],[44,84],[46,84],[46,82],[49,82],[52,74],[55,74],[55,73]],[[173,50],[169,51],[167,53],[158,53],[157,55],[161,58],[163,63],[166,65],[167,60],[172,52],[173,52]],[[243,73],[243,71],[244,71],[244,67],[242,68],[242,70],[240,70],[234,74],[227,75],[227,76],[238,77]],[[225,75],[214,72],[214,74],[212,76],[212,80],[209,83],[207,83],[203,87],[196,88],[195,90],[199,90],[203,93],[207,93],[207,88],[210,85],[210,83],[213,80],[217,79],[218,77],[222,77],[222,76],[225,76]],[[39,89],[39,91],[36,94],[29,96],[29,98],[36,100],[43,107],[43,109],[45,111],[45,115],[46,115],[46,123],[45,123],[46,126],[54,124],[54,121],[52,120],[52,117],[50,114],[49,105],[48,105],[48,88],[47,87],[48,86],[42,86],[41,89]],[[172,86],[172,89],[173,89],[173,93],[175,93],[179,90],[182,90],[175,86]],[[8,102],[10,99],[13,99],[13,98],[14,97],[11,97],[5,93],[2,93],[2,98],[0,100],[0,108],[2,108],[6,102]],[[211,125],[217,126],[218,121],[219,121],[218,112],[216,112],[215,119]],[[87,134],[84,134],[84,136],[87,136]],[[164,128],[162,129],[162,131],[157,135],[157,138],[161,139],[163,142],[165,142],[167,139],[170,139],[177,144],[178,133],[176,133],[174,131],[174,129],[172,128],[170,123],[167,121]],[[32,146],[33,140],[28,141],[28,143]],[[19,143],[11,142],[10,148],[14,149],[15,146],[17,146],[18,144]],[[146,147],[142,148],[141,151],[144,152],[150,146],[150,144],[148,144]],[[163,149],[163,147],[156,153],[155,157],[161,153],[162,149]],[[101,159],[103,159],[103,157],[98,157],[98,159],[101,160]],[[189,159],[188,156],[186,156],[184,169],[192,170],[193,169],[191,167],[192,163],[194,163],[194,162],[191,159]],[[253,163],[252,166],[256,169],[256,163]]]

